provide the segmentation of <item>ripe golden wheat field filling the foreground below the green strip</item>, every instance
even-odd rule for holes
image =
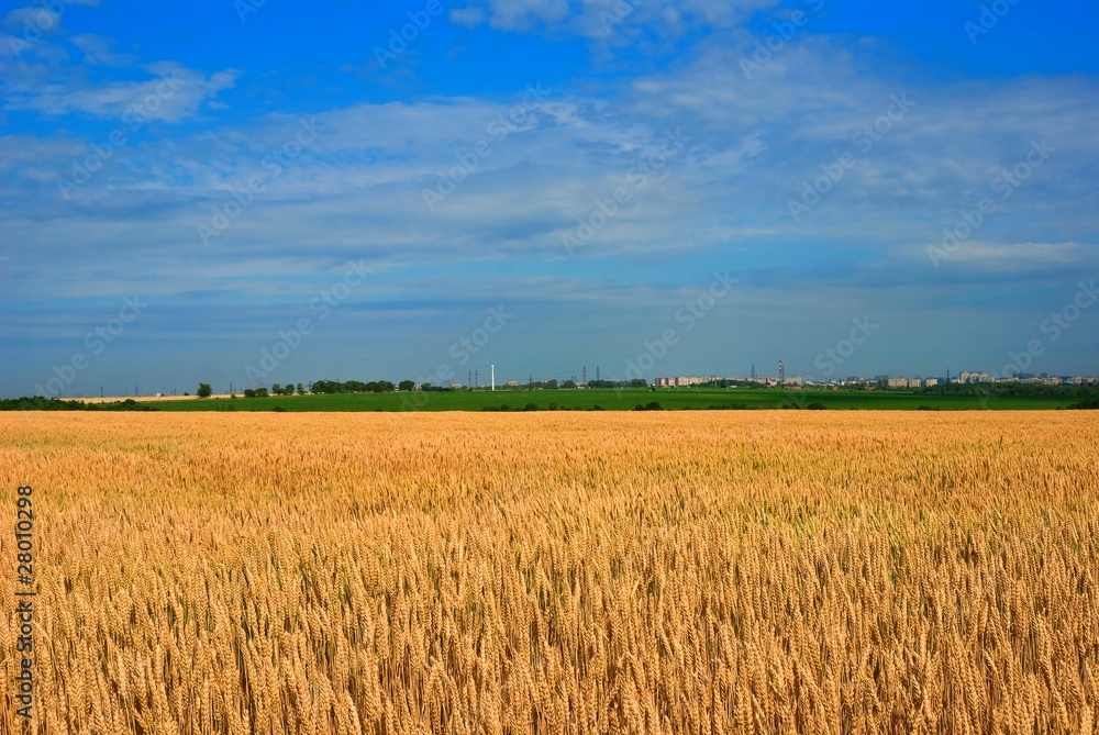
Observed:
[[[1096,439],[1083,411],[0,414],[0,731],[1094,734]]]

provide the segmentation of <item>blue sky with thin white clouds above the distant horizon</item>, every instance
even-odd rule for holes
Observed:
[[[1094,2],[5,8],[0,394],[1099,372]]]

